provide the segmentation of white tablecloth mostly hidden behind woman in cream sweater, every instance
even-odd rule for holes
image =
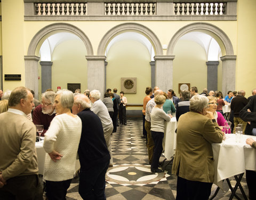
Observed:
[[[44,162],[46,153],[43,148],[43,141],[36,142],[36,153],[37,153],[37,161],[38,161],[38,174],[44,174]],[[76,171],[80,169],[79,159],[76,159]]]

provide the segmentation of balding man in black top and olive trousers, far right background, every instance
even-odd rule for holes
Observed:
[[[234,128],[237,126],[237,124],[243,124],[243,134],[244,134],[247,122],[243,121],[243,119],[240,118],[239,112],[249,102],[244,96],[245,96],[245,91],[239,90],[237,93],[237,96],[233,98],[230,103],[230,108],[231,110],[234,111]]]

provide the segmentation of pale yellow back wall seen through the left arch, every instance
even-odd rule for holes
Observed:
[[[67,83],[81,83],[87,89],[86,48],[82,41],[69,40],[55,47],[52,54],[52,89],[67,89]]]

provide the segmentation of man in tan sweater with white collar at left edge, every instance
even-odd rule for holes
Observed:
[[[17,87],[10,95],[9,110],[0,114],[1,199],[42,199],[42,194],[36,196],[39,191],[36,127],[26,117],[33,107],[30,90]]]

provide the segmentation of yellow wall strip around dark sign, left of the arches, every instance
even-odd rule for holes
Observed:
[[[3,76],[21,74],[21,81],[3,81],[4,90],[25,86],[23,16],[23,1],[2,1]]]

